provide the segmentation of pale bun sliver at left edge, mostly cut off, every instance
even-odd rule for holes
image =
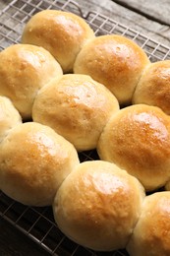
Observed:
[[[21,123],[22,117],[11,100],[6,96],[0,96],[0,142],[10,129]]]

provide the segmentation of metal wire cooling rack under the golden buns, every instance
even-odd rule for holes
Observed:
[[[85,18],[96,35],[117,33],[135,40],[146,52],[152,62],[170,59],[170,48],[148,38],[110,18],[95,12],[84,15],[81,8],[72,0],[7,0],[0,12],[0,50],[21,41],[25,24],[30,17],[44,9],[57,9],[75,13]],[[80,154],[80,160],[97,160],[95,151]],[[32,208],[8,198],[0,192],[0,217],[24,232],[34,242],[51,255],[59,256],[127,256],[125,250],[99,253],[88,250],[68,239],[54,224],[50,207]]]

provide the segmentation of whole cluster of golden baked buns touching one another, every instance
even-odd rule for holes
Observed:
[[[169,87],[170,61],[135,41],[35,14],[0,52],[0,189],[92,250],[170,255]]]

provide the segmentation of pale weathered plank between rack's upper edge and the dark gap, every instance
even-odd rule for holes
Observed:
[[[138,3],[138,0],[131,1]],[[167,25],[162,25],[156,21],[143,17],[142,14],[129,10],[128,8],[123,7],[111,0],[77,0],[77,2],[80,4],[80,6],[82,6],[84,12],[92,10],[102,13],[127,27],[130,27],[138,32],[142,32],[149,38],[155,39],[160,43],[170,46],[170,27]]]

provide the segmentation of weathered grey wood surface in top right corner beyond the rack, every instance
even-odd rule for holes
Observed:
[[[84,12],[93,10],[170,46],[170,2],[155,0],[77,0]],[[164,21],[164,23],[162,22]]]

